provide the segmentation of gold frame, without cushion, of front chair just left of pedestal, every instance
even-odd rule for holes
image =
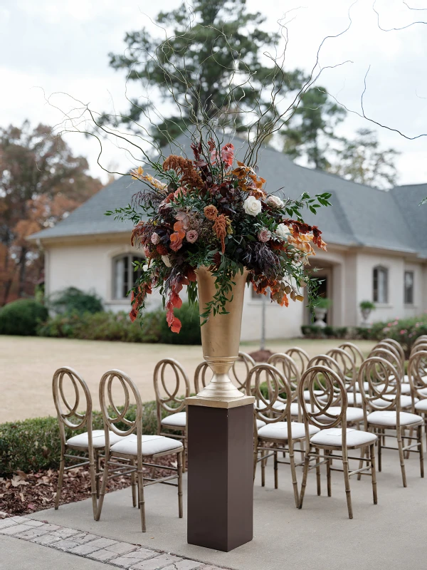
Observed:
[[[120,411],[112,399],[112,381],[117,378],[120,385],[122,386],[123,392],[125,394],[125,405],[123,410]],[[126,414],[130,407],[130,396],[133,395],[136,403],[136,413],[135,420],[128,420]],[[123,477],[123,475],[130,475],[132,482],[132,503],[133,506],[137,506],[137,494],[138,494],[138,507],[141,516],[141,529],[142,532],[146,532],[146,517],[145,517],[145,500],[144,500],[144,487],[155,483],[162,483],[173,485],[178,487],[178,512],[179,518],[183,516],[182,509],[182,452],[183,447],[178,451],[166,451],[159,452],[152,455],[155,459],[157,457],[164,457],[165,455],[176,455],[176,467],[158,465],[152,462],[144,462],[142,455],[142,448],[144,443],[142,441],[142,400],[139,395],[139,390],[131,378],[120,370],[110,370],[107,371],[101,378],[100,381],[100,405],[102,411],[102,418],[104,420],[104,431],[105,431],[105,467],[102,475],[102,487],[100,491],[100,499],[97,506],[96,520],[100,519],[102,504],[104,502],[105,490],[107,487],[107,481],[113,477]],[[115,414],[112,418],[110,415],[110,410]],[[123,423],[127,427],[125,430],[120,430],[117,427],[118,423]],[[121,437],[126,437],[132,435],[136,432],[137,435],[137,457],[135,465],[135,455],[130,455],[127,453],[117,452],[110,450],[110,431]],[[152,467],[153,477],[145,477],[143,469],[144,467]],[[155,470],[167,470],[172,471],[172,475],[167,475],[166,477],[154,477]],[[135,477],[137,480],[135,480]],[[174,480],[177,480],[174,483]]]

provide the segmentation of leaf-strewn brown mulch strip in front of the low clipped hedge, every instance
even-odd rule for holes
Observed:
[[[156,460],[161,465],[176,465],[174,456],[160,457]],[[147,473],[149,472],[149,468]],[[170,475],[170,471],[157,470],[156,477]],[[4,514],[31,514],[32,512],[51,509],[55,505],[58,472],[55,470],[24,473],[22,471],[7,479],[0,477],[0,518]],[[130,486],[130,477],[115,477],[107,483],[107,492],[117,491]],[[64,473],[60,504],[83,501],[90,498],[90,477],[84,467]]]

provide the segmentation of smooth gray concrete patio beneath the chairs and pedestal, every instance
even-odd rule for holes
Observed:
[[[394,445],[391,441],[389,445]],[[408,487],[404,489],[398,453],[384,450],[377,505],[372,503],[370,477],[362,477],[361,481],[352,477],[352,520],[347,518],[341,473],[332,474],[332,497],[326,496],[322,473],[322,497],[317,497],[315,474],[311,472],[304,507],[297,510],[289,466],[280,465],[279,469],[277,490],[273,488],[271,463],[264,488],[260,486],[258,472],[253,541],[228,553],[186,543],[186,519],[178,518],[173,487],[147,487],[145,534],[140,532],[139,512],[132,508],[130,489],[105,497],[100,522],[93,520],[90,500],[61,506],[58,511],[41,511],[32,518],[237,570],[426,568],[427,480],[419,477],[415,454],[406,460]],[[297,475],[300,482],[301,470]],[[186,477],[184,484],[185,497]]]

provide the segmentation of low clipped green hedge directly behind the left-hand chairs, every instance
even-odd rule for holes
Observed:
[[[130,408],[126,418],[135,420],[135,406]],[[156,433],[157,415],[154,401],[144,403],[142,418],[142,432]],[[118,427],[126,429],[125,425],[118,424]],[[93,429],[103,429],[100,412],[93,413]],[[68,430],[67,437],[77,433],[79,432]],[[58,469],[59,460],[60,438],[57,418],[49,416],[0,424],[0,477],[11,475],[18,470],[30,472]]]

